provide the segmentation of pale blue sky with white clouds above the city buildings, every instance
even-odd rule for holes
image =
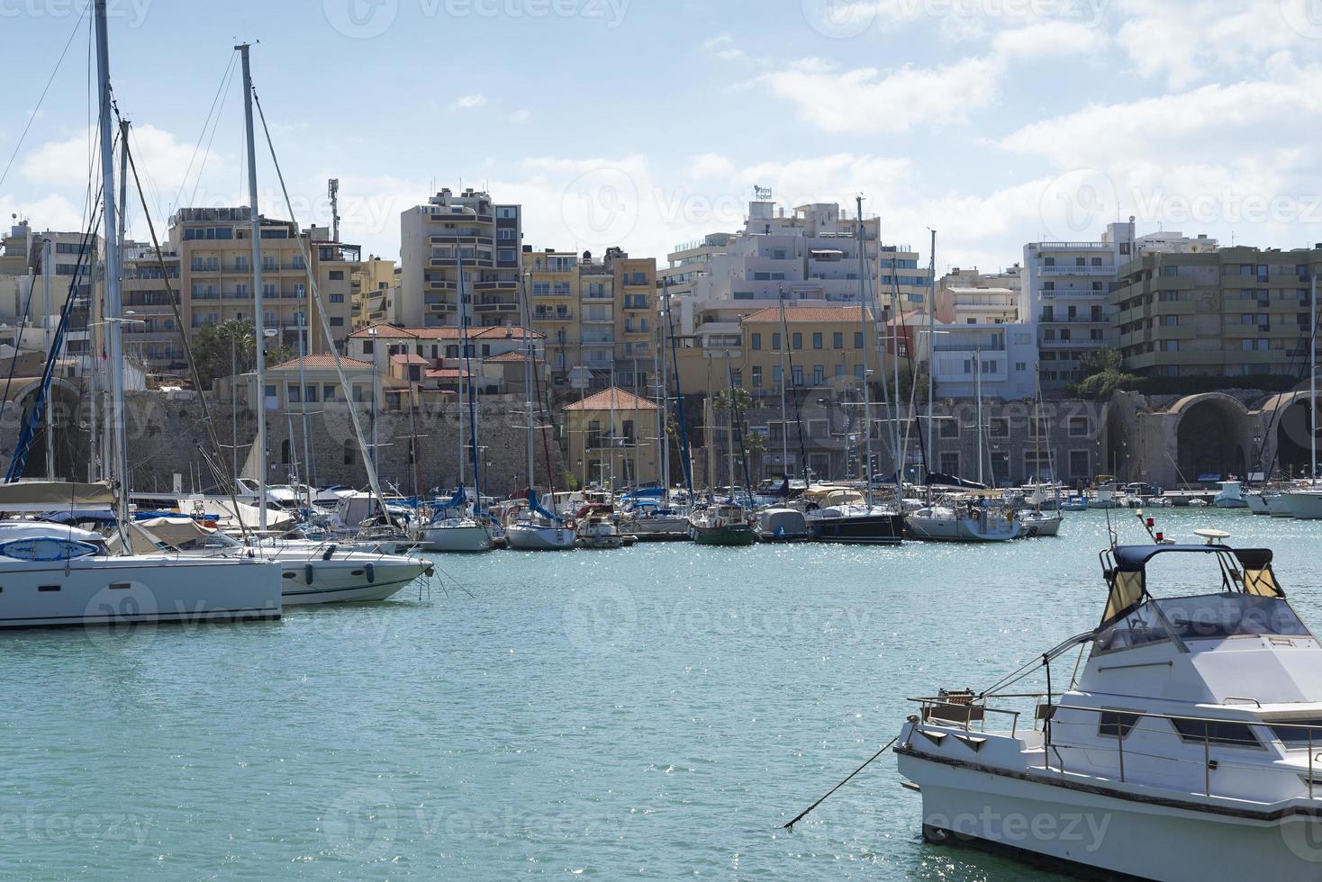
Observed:
[[[1322,0],[108,0],[111,78],[160,223],[247,205],[237,42],[299,223],[397,257],[448,186],[525,244],[665,255],[754,187],[839,202],[936,265],[1039,240],[1322,240]],[[83,0],[0,0],[0,211],[82,226]],[[57,67],[61,51],[67,53]],[[46,79],[54,78],[22,136]],[[214,108],[214,110],[213,110]],[[94,107],[93,107],[94,110]],[[22,141],[20,144],[20,137]],[[258,132],[263,213],[290,217]],[[8,172],[4,166],[13,162]],[[94,158],[93,158],[94,161]],[[131,206],[135,238],[144,213]]]

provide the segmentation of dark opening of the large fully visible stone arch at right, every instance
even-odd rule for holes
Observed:
[[[1185,482],[1243,478],[1248,471],[1248,408],[1223,392],[1190,395],[1177,401],[1177,466]]]

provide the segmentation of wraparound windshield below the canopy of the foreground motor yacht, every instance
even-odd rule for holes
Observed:
[[[1162,617],[1170,622],[1170,630]],[[1309,630],[1282,598],[1204,594],[1147,601],[1104,628],[1097,635],[1096,650],[1108,652],[1155,643],[1170,639],[1171,634],[1181,640],[1206,640],[1251,635],[1309,636]]]

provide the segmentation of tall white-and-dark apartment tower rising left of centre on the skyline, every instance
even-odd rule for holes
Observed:
[[[524,240],[517,205],[444,189],[401,214],[399,320],[416,327],[517,325]],[[463,267],[464,292],[459,293]]]

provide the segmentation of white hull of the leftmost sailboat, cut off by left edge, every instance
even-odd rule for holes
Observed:
[[[0,628],[278,619],[280,568],[167,555],[0,561]]]

